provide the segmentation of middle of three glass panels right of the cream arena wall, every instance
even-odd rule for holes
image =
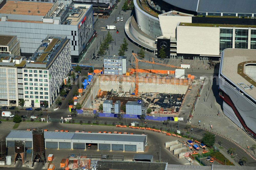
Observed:
[[[236,29],[235,48],[248,48],[248,29]]]

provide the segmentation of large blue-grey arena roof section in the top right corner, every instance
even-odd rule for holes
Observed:
[[[199,0],[198,12],[256,13],[255,0]]]

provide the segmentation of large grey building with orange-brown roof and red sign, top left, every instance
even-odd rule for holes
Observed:
[[[90,4],[7,0],[0,7],[0,34],[16,35],[23,56],[32,55],[47,35],[63,35],[71,41],[71,61],[78,63],[96,35]]]

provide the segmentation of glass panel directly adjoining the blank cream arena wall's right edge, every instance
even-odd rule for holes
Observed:
[[[233,29],[220,28],[220,54],[226,48],[232,48]]]

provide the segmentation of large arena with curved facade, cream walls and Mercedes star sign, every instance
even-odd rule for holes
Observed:
[[[156,55],[164,48],[166,58],[220,60],[226,48],[256,49],[256,10],[251,7],[256,2],[235,2],[159,0],[154,5],[133,0],[135,14],[125,32]]]

